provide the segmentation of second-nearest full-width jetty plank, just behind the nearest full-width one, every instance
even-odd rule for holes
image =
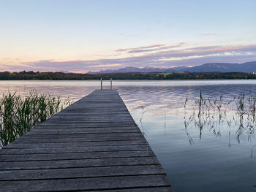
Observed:
[[[20,174],[22,172],[22,174]],[[67,169],[7,170],[0,174],[0,181],[50,180],[64,178],[111,177],[143,174],[165,174],[159,165],[99,166]]]

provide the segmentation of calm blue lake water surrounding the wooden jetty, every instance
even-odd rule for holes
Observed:
[[[26,95],[36,89],[76,101],[99,85],[99,81],[0,81],[0,94]],[[109,85],[103,82],[104,88]],[[217,131],[209,126],[198,128],[193,122],[184,126],[186,97],[191,112],[200,91],[206,97],[223,95],[228,101],[240,93],[255,95],[256,80],[113,81],[113,88],[124,99],[176,192],[256,191],[254,131],[244,128],[238,137],[238,124],[228,127],[225,120]]]

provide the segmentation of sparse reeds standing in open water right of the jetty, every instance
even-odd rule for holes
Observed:
[[[248,140],[255,134],[255,115],[256,115],[256,96],[245,96],[240,94],[233,99],[224,98],[224,96],[204,97],[202,91],[199,93],[199,99],[192,104],[192,110],[186,111],[187,101],[184,103],[184,126],[187,128],[195,127],[199,129],[199,137],[202,137],[203,129],[211,130],[217,137],[221,137],[222,127],[229,128],[230,138],[231,127],[236,127],[236,139],[240,142],[240,137],[247,135]],[[186,118],[189,117],[189,121]],[[191,139],[189,138],[189,143]],[[229,142],[230,146],[230,142]]]

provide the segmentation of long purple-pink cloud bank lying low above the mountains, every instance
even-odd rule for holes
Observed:
[[[174,45],[175,46],[175,45]],[[177,46],[177,45],[176,45]],[[147,46],[149,47],[149,46]],[[161,50],[160,48],[163,47]],[[154,53],[146,55],[132,55],[124,58],[108,58],[97,60],[74,61],[29,61],[18,65],[2,64],[1,69],[10,71],[69,71],[88,72],[102,69],[118,69],[127,66],[195,66],[211,62],[242,63],[256,61],[256,45],[230,45],[230,46],[203,46],[203,47],[177,47],[165,49],[164,45]]]

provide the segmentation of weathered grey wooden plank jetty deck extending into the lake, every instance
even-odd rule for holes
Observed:
[[[0,191],[171,191],[117,91],[80,99],[0,150],[0,161]]]

